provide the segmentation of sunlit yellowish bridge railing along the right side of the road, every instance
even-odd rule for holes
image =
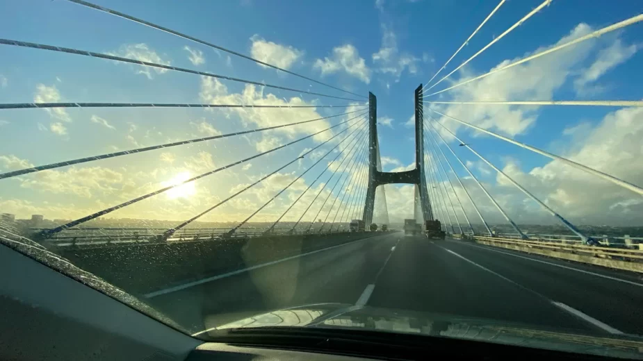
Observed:
[[[454,238],[462,239],[462,236],[454,235]],[[520,240],[509,237],[488,237],[480,235],[466,237],[466,239],[487,246],[643,273],[643,249],[614,248],[605,245],[588,246],[566,241]]]

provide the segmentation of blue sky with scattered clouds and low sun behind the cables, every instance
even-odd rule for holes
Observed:
[[[378,135],[384,171],[414,167],[414,90],[436,84],[510,28],[542,1],[505,1],[444,69],[498,1],[95,1],[149,22],[252,56],[290,72],[361,96],[377,96]],[[637,1],[552,1],[467,65],[428,90],[431,94],[556,44],[640,15]],[[225,51],[64,0],[0,2],[1,37],[107,53],[211,72],[259,83],[365,100],[325,85],[258,65]],[[546,205],[576,224],[640,225],[643,198],[607,181],[467,128],[430,109],[583,165],[643,185],[643,109],[431,104],[429,101],[640,100],[643,98],[643,24],[633,24],[562,51],[472,81],[425,99],[425,114],[485,156]],[[0,45],[0,103],[40,102],[213,103],[318,106],[291,109],[71,108],[0,110],[0,172],[12,171],[211,135],[283,125],[364,110],[361,102],[247,85],[111,60]],[[319,106],[334,106],[320,108]],[[176,146],[1,180],[0,212],[19,218],[74,219],[147,194],[281,144],[322,131],[351,115],[238,137]],[[361,119],[158,194],[107,217],[183,221],[319,146],[266,181],[201,218],[241,221],[270,201],[252,221],[286,212],[296,221],[320,192],[304,220],[329,215],[357,200],[366,169]],[[351,126],[352,127],[349,127]],[[348,127],[348,128],[347,128]],[[440,128],[438,126],[438,128]],[[360,156],[340,165],[358,129]],[[343,133],[340,133],[342,132]],[[333,137],[336,135],[336,137]],[[556,220],[446,131],[446,142],[516,223]],[[439,138],[437,142],[441,143]],[[326,142],[327,143],[323,143]],[[432,142],[430,137],[428,142]],[[336,149],[332,150],[332,147]],[[480,187],[446,146],[453,165],[429,155],[441,173],[434,190],[449,194],[452,212],[480,223],[456,175],[489,223],[505,223]],[[330,151],[325,158],[320,158]],[[339,154],[338,151],[343,153]],[[361,153],[360,153],[361,152]],[[332,159],[338,156],[334,162]],[[318,163],[316,163],[319,161]],[[314,165],[314,167],[312,167]],[[329,171],[317,176],[328,166]],[[343,168],[344,166],[345,169]],[[309,169],[312,167],[309,171]],[[329,178],[337,169],[336,176]],[[303,176],[300,175],[307,171]],[[348,177],[348,181],[344,182]],[[300,178],[298,178],[300,177]],[[336,180],[339,179],[339,182]],[[174,183],[173,183],[174,182]],[[334,187],[335,183],[338,183]],[[328,187],[323,187],[328,183]],[[453,184],[453,186],[452,186]],[[334,187],[333,192],[329,190]],[[413,214],[412,185],[387,185],[391,221]],[[347,194],[344,196],[344,194]],[[432,192],[430,192],[432,196]],[[457,199],[462,208],[457,205]],[[322,207],[323,199],[328,198]],[[433,199],[433,198],[432,198]],[[433,199],[437,213],[440,200]],[[359,202],[355,202],[356,204]],[[333,204],[331,206],[331,204]],[[314,213],[320,210],[320,215]],[[444,209],[441,209],[444,212]],[[464,214],[463,214],[464,211]],[[355,212],[357,215],[359,212]],[[455,213],[455,214],[454,214]],[[346,215],[345,219],[348,219]]]

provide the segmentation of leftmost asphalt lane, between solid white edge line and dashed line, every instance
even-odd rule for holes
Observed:
[[[249,271],[144,301],[195,333],[281,308],[355,303],[398,238],[384,233],[254,269],[261,265],[247,262]]]

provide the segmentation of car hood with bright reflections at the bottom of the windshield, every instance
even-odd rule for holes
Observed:
[[[448,314],[372,308],[341,303],[318,303],[257,314],[216,330],[257,327],[355,328],[393,333],[528,346],[574,353],[643,359],[643,338],[611,337],[578,330],[552,330],[507,321]]]

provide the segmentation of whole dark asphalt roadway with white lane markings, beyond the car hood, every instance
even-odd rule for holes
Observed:
[[[469,242],[386,233],[247,267],[161,290],[147,302],[195,333],[257,313],[332,302],[643,335],[637,276]]]

